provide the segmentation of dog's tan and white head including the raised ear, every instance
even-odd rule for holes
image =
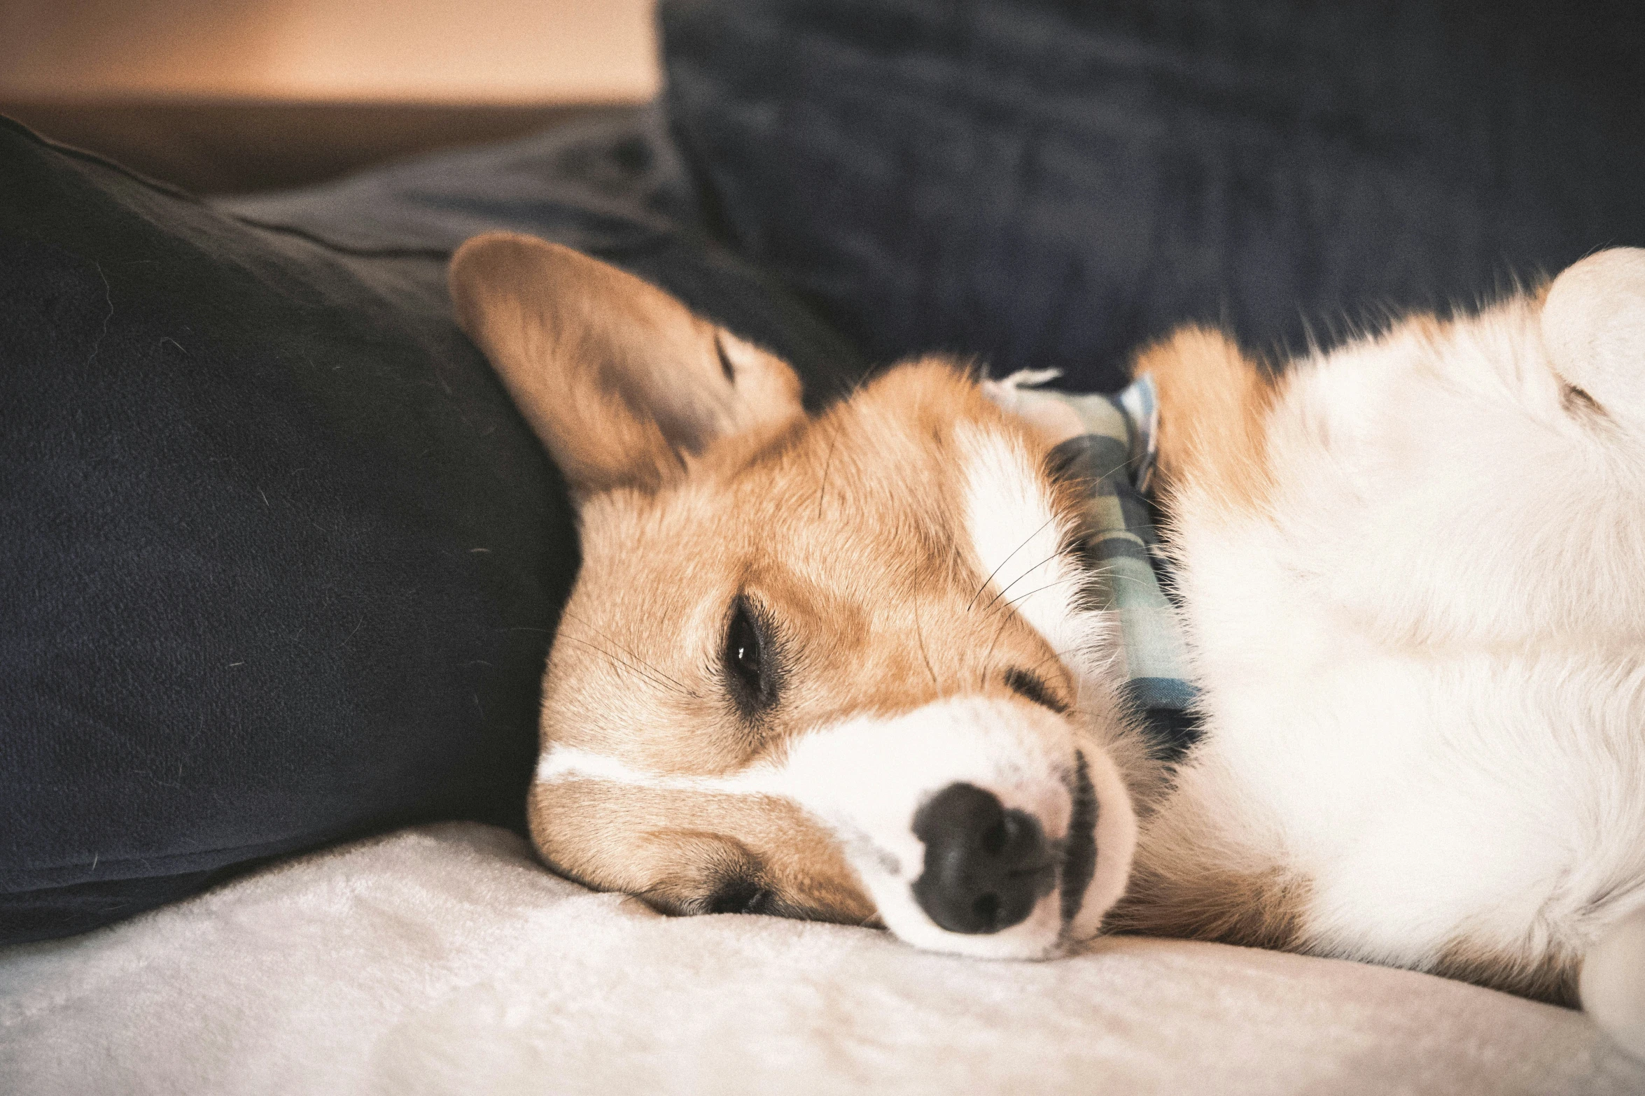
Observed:
[[[809,416],[781,360],[541,240],[470,240],[451,284],[581,523],[543,858],[966,955],[1094,935],[1135,820],[1046,442],[943,361]]]

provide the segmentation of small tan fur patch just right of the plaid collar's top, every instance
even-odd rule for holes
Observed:
[[[1143,350],[1133,370],[1160,391],[1166,491],[1219,506],[1258,506],[1272,488],[1263,419],[1277,381],[1222,332],[1184,327]]]

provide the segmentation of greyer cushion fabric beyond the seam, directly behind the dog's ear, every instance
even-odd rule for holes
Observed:
[[[482,232],[528,232],[615,263],[778,352],[799,371],[809,406],[839,396],[862,375],[860,353],[773,278],[709,240],[666,130],[660,105],[614,108],[520,141],[217,207],[367,251],[446,256]]]

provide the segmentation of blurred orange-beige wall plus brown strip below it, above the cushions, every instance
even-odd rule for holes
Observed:
[[[658,87],[653,0],[0,0],[0,113],[207,192]]]

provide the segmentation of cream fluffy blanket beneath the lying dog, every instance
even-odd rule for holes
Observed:
[[[444,825],[0,951],[0,1089],[1637,1094],[1645,1066],[1578,1012],[1355,963],[666,919]]]

